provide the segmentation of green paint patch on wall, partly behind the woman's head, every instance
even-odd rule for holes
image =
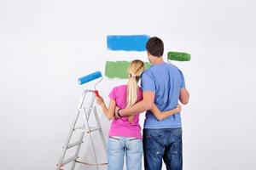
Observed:
[[[127,69],[130,63],[130,61],[107,61],[105,65],[105,76],[108,78],[128,78]],[[144,64],[145,69],[151,66],[148,62],[144,62]]]

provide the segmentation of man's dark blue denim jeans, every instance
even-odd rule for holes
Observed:
[[[143,129],[145,170],[183,169],[182,128]]]

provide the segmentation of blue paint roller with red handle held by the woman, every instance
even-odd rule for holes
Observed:
[[[91,74],[89,74],[89,75],[86,75],[86,76],[84,76],[84,77],[80,77],[79,80],[78,80],[78,82],[79,82],[80,85],[82,85],[82,84],[84,84],[84,83],[86,83],[86,82],[90,82],[90,81],[96,80],[97,78],[101,78],[101,80],[98,81],[98,82],[96,82],[96,84],[94,85],[94,93],[96,94],[97,97],[100,98],[101,96],[100,96],[98,90],[96,90],[96,85],[97,85],[99,82],[101,82],[102,79],[103,79],[103,78],[102,78],[102,73],[101,73],[101,71],[96,71],[96,72],[93,72],[93,73],[91,73]]]

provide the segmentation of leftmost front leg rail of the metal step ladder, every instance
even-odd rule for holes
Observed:
[[[74,129],[74,127],[76,126],[76,123],[77,123],[78,118],[79,118],[79,114],[80,114],[80,112],[78,111],[77,116],[75,117],[75,119],[74,119],[74,121],[73,121],[73,123],[72,123],[72,126],[71,126],[71,128],[70,128],[70,130],[69,130],[69,133],[68,133],[68,135],[67,135],[67,140],[66,140],[65,145],[63,146],[63,150],[62,150],[61,157],[60,157],[60,160],[59,160],[59,163],[58,163],[58,166],[57,166],[57,170],[60,170],[60,169],[61,169],[61,164],[62,164],[62,162],[63,162],[63,159],[64,159],[65,155],[66,155],[67,145],[69,144],[70,139],[71,139],[71,137],[72,137],[73,129]]]

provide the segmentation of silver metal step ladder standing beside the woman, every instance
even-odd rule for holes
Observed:
[[[84,99],[85,99],[86,94],[91,94],[90,105],[89,105],[88,111],[86,111],[85,107],[84,107]],[[106,140],[104,138],[101,123],[100,123],[99,117],[98,117],[97,112],[96,112],[96,106],[93,105],[95,97],[96,97],[96,90],[86,89],[84,91],[84,93],[82,94],[82,97],[79,101],[79,109],[77,111],[77,115],[75,116],[75,119],[73,120],[72,126],[71,126],[70,131],[69,131],[68,136],[67,136],[67,141],[66,141],[65,145],[63,146],[61,157],[60,157],[60,160],[57,164],[57,170],[64,170],[63,167],[65,165],[67,165],[68,163],[72,163],[71,170],[74,170],[76,163],[81,163],[81,164],[85,164],[85,165],[94,166],[96,170],[99,170],[99,166],[101,166],[101,165],[107,165],[107,163],[98,163],[97,158],[96,158],[96,150],[95,150],[96,146],[95,146],[95,144],[93,142],[93,139],[91,137],[91,133],[93,133],[93,132],[99,132],[100,133],[103,148],[105,150],[105,154],[107,155]],[[90,112],[91,111],[93,112],[93,115],[96,119],[96,127],[90,127],[89,118],[90,118]],[[79,116],[83,116],[83,126],[82,127],[76,127]],[[76,142],[71,143],[71,139],[72,139],[73,133],[75,131],[80,132],[79,140],[76,141]],[[86,162],[83,162],[83,161],[79,161],[79,150],[81,148],[81,144],[84,142],[84,133],[87,133],[89,135],[90,146],[91,146],[91,149],[92,149],[91,153],[93,155],[92,158],[93,158],[94,163],[86,163]],[[71,149],[73,147],[77,147],[75,149],[74,156],[65,159],[67,150]]]

